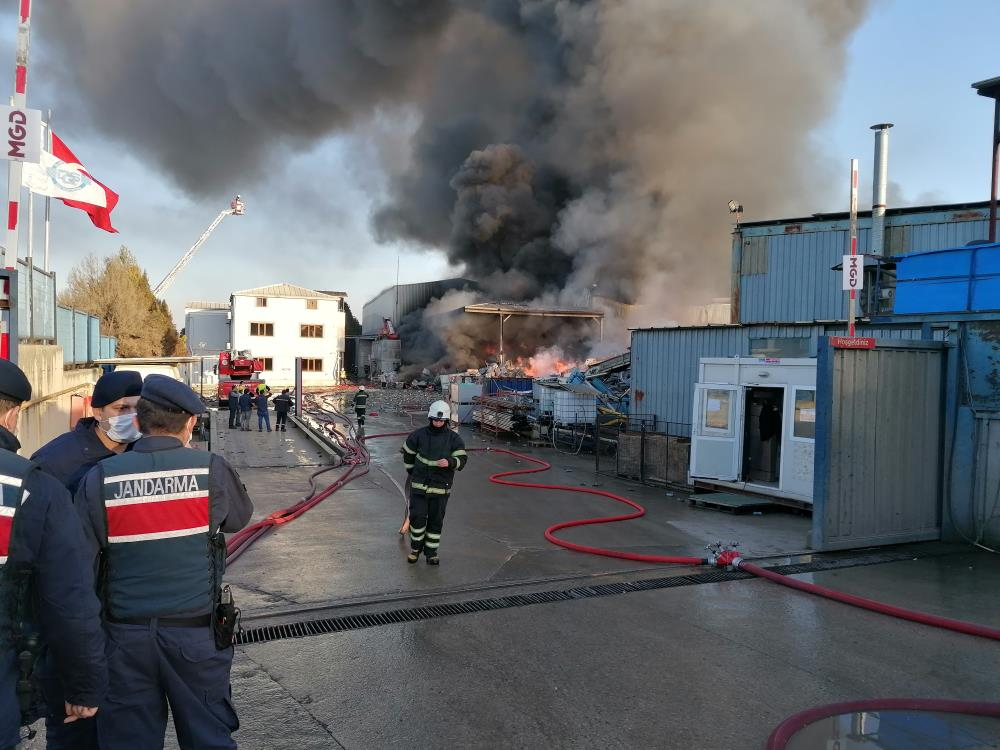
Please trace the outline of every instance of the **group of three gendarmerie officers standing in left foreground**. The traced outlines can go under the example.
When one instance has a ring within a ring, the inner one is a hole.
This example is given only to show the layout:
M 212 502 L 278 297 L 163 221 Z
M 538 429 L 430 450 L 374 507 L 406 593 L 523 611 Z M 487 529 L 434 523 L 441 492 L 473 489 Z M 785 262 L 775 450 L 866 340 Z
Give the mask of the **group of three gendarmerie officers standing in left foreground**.
M 91 417 L 28 460 L 31 393 L 0 360 L 0 750 L 43 716 L 49 748 L 162 747 L 168 703 L 182 747 L 235 748 L 223 533 L 253 504 L 190 447 L 203 402 L 108 373 Z

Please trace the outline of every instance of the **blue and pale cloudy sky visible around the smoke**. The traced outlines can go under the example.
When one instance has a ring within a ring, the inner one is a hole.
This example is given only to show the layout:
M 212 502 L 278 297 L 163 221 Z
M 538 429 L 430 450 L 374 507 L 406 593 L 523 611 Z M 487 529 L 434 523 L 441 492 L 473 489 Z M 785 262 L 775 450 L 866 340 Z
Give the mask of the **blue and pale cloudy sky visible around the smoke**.
M 861 164 L 861 205 L 870 205 L 869 126 L 877 122 L 895 125 L 890 208 L 988 198 L 993 102 L 976 96 L 970 84 L 1000 75 L 995 31 L 986 22 L 996 11 L 997 0 L 873 3 L 851 40 L 838 105 L 812 134 L 824 159 L 843 163 L 843 200 L 816 205 L 813 212 L 847 209 L 851 158 Z M 15 32 L 13 15 L 0 14 L 0 61 L 11 61 L 11 84 Z M 33 26 L 33 41 L 44 34 L 44 28 Z M 235 290 L 290 282 L 344 291 L 360 317 L 364 302 L 394 283 L 397 260 L 403 283 L 461 274 L 442 254 L 383 245 L 372 237 L 370 216 L 384 184 L 364 166 L 374 161 L 366 154 L 372 148 L 368 139 L 349 133 L 330 137 L 290 154 L 285 173 L 273 179 L 233 184 L 211 199 L 191 199 L 150 167 L 143 154 L 98 137 L 72 111 L 61 117 L 60 92 L 46 84 L 47 61 L 44 48 L 38 49 L 31 60 L 28 105 L 51 107 L 55 132 L 121 196 L 112 214 L 119 229 L 115 235 L 94 228 L 83 212 L 54 202 L 51 257 L 57 279 L 65 279 L 87 254 L 110 255 L 127 245 L 155 285 L 236 193 L 246 203 L 246 215 L 226 218 L 165 295 L 178 327 L 186 302 L 225 301 Z M 197 145 L 196 133 L 192 145 Z M 780 218 L 755 215 L 752 195 L 736 197 L 747 219 Z M 36 265 L 41 265 L 43 200 L 36 199 Z M 26 234 L 22 231 L 21 255 Z

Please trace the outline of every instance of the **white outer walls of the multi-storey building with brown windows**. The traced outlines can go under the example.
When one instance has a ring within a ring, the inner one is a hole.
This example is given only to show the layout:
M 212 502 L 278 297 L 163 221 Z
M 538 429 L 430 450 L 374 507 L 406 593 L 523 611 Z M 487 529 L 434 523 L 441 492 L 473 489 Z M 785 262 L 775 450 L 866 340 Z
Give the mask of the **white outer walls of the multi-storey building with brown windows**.
M 305 385 L 336 385 L 345 348 L 346 315 L 339 299 L 317 299 L 309 310 L 302 297 L 268 297 L 266 307 L 257 307 L 256 297 L 233 297 L 233 350 L 249 349 L 254 357 L 271 358 L 272 367 L 263 377 L 272 386 L 295 384 L 295 358 L 321 359 L 322 370 L 303 372 Z M 273 336 L 252 336 L 251 323 L 273 323 Z M 303 338 L 300 326 L 323 326 L 322 338 Z

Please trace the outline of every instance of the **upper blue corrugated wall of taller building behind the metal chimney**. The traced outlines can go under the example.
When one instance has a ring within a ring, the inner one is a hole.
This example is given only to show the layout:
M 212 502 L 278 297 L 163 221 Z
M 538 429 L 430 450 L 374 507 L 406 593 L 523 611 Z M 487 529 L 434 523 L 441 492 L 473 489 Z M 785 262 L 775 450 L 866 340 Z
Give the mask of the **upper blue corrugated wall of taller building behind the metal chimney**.
M 892 255 L 959 247 L 988 236 L 985 210 L 889 215 Z M 858 251 L 869 250 L 871 219 L 858 221 Z M 741 323 L 804 323 L 847 318 L 840 275 L 831 268 L 849 252 L 846 220 L 745 226 L 734 235 L 740 269 Z

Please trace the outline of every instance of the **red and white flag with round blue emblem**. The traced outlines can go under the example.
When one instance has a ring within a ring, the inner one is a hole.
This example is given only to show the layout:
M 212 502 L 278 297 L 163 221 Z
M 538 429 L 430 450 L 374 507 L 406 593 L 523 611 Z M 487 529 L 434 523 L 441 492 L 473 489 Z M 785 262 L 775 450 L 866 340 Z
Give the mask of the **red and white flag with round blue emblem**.
M 41 163 L 24 165 L 22 184 L 33 193 L 58 198 L 67 206 L 86 211 L 98 229 L 118 231 L 111 226 L 118 193 L 95 179 L 55 133 L 52 153 L 43 150 Z

